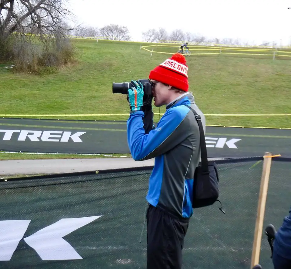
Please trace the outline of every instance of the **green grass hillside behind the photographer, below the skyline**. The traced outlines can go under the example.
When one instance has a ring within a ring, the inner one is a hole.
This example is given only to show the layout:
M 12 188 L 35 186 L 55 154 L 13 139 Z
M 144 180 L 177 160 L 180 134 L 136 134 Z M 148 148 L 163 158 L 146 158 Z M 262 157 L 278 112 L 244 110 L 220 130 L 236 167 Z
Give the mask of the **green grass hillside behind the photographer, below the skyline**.
M 15 74 L 0 65 L 3 115 L 127 114 L 126 95 L 112 82 L 148 78 L 170 55 L 140 50 L 141 43 L 72 40 L 76 63 L 57 74 Z M 146 44 L 143 44 L 146 45 Z M 176 53 L 177 47 L 154 47 Z M 205 114 L 287 114 L 291 111 L 291 61 L 244 55 L 191 55 L 189 91 Z M 164 108 L 154 107 L 154 112 Z M 28 116 L 28 118 L 126 120 L 128 116 Z M 19 116 L 16 116 L 19 117 Z M 22 116 L 23 117 L 23 116 Z M 155 121 L 159 120 L 155 115 Z M 290 116 L 206 116 L 208 125 L 290 127 Z

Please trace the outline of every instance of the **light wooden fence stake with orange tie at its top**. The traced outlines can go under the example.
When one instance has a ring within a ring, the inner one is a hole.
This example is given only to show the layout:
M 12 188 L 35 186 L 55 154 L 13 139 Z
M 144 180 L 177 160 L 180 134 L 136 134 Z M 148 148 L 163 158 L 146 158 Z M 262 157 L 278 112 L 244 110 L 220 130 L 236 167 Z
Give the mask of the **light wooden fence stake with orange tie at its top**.
M 271 171 L 271 162 L 272 162 L 272 153 L 265 152 L 262 178 L 261 178 L 261 186 L 260 186 L 260 192 L 259 192 L 259 200 L 258 200 L 258 210 L 257 210 L 255 233 L 254 233 L 254 241 L 253 241 L 251 268 L 253 268 L 256 264 L 259 264 L 261 240 L 262 240 L 262 232 L 263 232 L 263 222 L 264 222 L 264 215 L 265 215 L 265 208 L 266 208 L 269 176 L 270 176 L 270 171 Z

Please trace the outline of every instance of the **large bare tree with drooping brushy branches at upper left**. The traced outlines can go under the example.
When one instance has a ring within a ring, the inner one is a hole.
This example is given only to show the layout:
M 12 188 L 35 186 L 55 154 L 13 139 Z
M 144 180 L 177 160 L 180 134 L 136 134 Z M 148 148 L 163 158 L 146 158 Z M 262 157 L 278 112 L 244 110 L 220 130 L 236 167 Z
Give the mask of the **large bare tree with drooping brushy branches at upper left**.
M 77 27 L 66 23 L 72 14 L 66 1 L 0 0 L 0 59 L 39 74 L 72 62 L 75 50 L 65 36 Z

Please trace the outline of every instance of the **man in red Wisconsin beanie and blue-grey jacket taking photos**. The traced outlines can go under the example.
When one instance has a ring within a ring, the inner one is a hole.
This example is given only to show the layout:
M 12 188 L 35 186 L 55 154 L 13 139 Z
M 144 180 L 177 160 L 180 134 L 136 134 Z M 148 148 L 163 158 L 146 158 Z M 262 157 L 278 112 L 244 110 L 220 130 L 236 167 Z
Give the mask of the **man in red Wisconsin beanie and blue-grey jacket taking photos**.
M 193 175 L 200 160 L 199 126 L 189 105 L 205 117 L 188 92 L 188 66 L 176 53 L 154 68 L 149 79 L 155 106 L 166 105 L 156 129 L 147 130 L 145 114 L 152 113 L 144 100 L 143 85 L 131 81 L 128 90 L 131 109 L 127 140 L 134 160 L 155 158 L 149 179 L 147 209 L 147 268 L 182 268 L 182 249 L 189 219 L 193 214 Z M 146 109 L 145 109 L 146 107 Z M 152 118 L 151 118 L 152 121 Z

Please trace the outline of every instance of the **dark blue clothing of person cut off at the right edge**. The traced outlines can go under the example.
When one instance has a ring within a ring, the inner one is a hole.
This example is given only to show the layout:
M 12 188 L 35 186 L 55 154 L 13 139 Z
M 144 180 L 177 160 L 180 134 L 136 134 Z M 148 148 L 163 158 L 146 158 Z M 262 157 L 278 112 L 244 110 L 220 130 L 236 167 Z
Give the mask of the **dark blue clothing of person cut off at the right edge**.
M 285 259 L 291 260 L 291 209 L 289 216 L 284 218 L 282 226 L 276 233 L 274 252 Z

